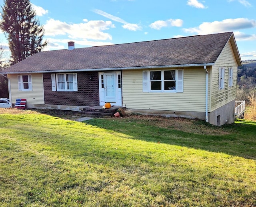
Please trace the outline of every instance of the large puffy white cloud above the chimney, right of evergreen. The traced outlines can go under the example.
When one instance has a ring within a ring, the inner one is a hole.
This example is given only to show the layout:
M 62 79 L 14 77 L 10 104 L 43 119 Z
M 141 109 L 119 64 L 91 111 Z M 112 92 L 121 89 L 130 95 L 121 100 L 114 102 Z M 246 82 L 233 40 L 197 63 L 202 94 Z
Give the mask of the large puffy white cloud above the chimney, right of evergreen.
M 114 24 L 111 21 L 84 20 L 79 24 L 68 24 L 61 22 L 60 20 L 50 19 L 46 21 L 44 25 L 46 36 L 68 35 L 68 37 L 75 39 L 92 39 L 92 40 L 112 40 L 112 36 L 108 33 L 102 32 L 114 28 Z

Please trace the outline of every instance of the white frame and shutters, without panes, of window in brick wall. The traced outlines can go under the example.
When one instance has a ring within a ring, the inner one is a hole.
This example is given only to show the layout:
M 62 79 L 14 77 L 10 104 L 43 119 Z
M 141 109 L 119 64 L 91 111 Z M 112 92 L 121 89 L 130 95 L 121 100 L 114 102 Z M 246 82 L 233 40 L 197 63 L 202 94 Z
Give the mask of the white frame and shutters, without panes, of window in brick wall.
M 67 74 L 72 74 L 73 75 L 73 89 L 71 89 L 71 90 L 67 89 L 67 80 L 66 80 L 66 75 Z M 64 75 L 65 89 L 59 89 L 58 75 Z M 52 77 L 52 91 L 66 91 L 66 92 L 77 91 L 77 74 L 76 73 L 51 74 L 51 77 Z

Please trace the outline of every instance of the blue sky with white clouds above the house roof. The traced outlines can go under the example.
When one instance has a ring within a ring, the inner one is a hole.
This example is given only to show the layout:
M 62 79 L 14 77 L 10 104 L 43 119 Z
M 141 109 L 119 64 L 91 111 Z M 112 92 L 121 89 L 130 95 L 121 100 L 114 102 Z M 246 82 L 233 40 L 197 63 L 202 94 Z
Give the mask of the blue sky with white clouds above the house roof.
M 234 32 L 242 60 L 256 59 L 256 0 L 31 0 L 45 50 Z M 3 5 L 3 0 L 0 0 Z M 8 46 L 4 34 L 0 43 Z

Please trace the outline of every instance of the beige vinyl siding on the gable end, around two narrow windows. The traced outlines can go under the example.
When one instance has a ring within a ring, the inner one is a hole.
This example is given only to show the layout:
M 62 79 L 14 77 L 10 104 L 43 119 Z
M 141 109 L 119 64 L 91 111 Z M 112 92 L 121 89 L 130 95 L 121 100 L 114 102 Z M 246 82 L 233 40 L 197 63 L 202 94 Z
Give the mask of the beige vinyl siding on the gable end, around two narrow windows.
M 219 90 L 219 68 L 225 68 L 224 89 Z M 228 68 L 233 68 L 233 86 L 228 87 Z M 211 79 L 211 100 L 210 110 L 225 105 L 236 99 L 236 83 L 237 83 L 237 62 L 230 41 L 226 44 L 218 57 L 214 66 L 212 66 Z

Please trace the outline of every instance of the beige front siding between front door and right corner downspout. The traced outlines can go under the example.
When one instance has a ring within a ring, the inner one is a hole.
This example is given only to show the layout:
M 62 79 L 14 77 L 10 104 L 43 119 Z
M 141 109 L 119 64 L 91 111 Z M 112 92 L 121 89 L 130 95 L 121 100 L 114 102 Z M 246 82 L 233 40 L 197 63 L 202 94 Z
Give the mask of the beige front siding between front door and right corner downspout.
M 205 77 L 203 68 L 183 71 L 183 93 L 142 92 L 142 70 L 124 70 L 123 105 L 129 109 L 170 111 L 205 111 Z

